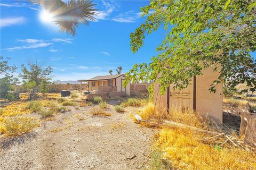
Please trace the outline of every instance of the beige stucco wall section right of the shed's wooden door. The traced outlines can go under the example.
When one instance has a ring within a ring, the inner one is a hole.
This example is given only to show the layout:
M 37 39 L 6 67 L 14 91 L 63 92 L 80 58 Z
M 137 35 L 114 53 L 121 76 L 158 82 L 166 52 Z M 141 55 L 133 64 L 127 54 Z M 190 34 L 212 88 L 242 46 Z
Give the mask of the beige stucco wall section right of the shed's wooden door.
M 219 72 L 206 69 L 203 75 L 196 77 L 196 111 L 207 114 L 217 123 L 222 123 L 222 87 L 220 83 L 216 86 L 215 94 L 209 91 L 210 85 L 219 77 Z

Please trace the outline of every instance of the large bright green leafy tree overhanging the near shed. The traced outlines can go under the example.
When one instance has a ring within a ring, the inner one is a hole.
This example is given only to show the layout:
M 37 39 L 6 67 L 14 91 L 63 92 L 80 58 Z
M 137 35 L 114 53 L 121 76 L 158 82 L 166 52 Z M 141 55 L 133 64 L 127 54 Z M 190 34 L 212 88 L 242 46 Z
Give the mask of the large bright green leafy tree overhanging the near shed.
M 126 74 L 126 83 L 157 80 L 163 94 L 170 83 L 174 88 L 186 88 L 193 76 L 213 67 L 214 71 L 221 70 L 210 91 L 222 81 L 231 89 L 246 83 L 254 91 L 255 6 L 254 0 L 151 0 L 141 8 L 146 21 L 130 35 L 131 50 L 137 52 L 146 35 L 158 29 L 163 28 L 166 36 L 150 64 L 135 64 Z

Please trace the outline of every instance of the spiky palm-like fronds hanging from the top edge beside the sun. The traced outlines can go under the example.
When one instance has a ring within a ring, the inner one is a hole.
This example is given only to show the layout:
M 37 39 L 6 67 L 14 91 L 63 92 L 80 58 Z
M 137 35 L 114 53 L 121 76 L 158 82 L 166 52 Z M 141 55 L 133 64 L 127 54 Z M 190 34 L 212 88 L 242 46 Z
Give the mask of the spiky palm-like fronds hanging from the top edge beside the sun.
M 51 13 L 53 22 L 58 25 L 61 32 L 67 32 L 73 36 L 76 35 L 79 24 L 89 25 L 89 21 L 94 21 L 97 15 L 95 4 L 89 0 L 30 1 L 41 5 L 44 10 Z

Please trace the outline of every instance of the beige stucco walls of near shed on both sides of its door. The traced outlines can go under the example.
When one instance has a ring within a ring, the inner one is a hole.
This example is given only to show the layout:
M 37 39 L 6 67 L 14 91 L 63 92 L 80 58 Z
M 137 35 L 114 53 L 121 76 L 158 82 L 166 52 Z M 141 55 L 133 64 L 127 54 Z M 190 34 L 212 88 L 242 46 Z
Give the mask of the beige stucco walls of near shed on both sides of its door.
M 216 86 L 216 92 L 210 92 L 210 85 L 214 80 L 217 80 L 219 77 L 219 71 L 213 72 L 211 68 L 204 70 L 203 75 L 199 75 L 196 77 L 196 97 L 195 97 L 195 109 L 196 112 L 202 113 L 202 115 L 207 115 L 213 121 L 218 124 L 222 123 L 222 87 L 223 84 L 220 83 Z M 190 86 L 193 86 L 191 84 Z M 170 103 L 167 105 L 167 90 L 164 95 L 160 95 L 159 83 L 154 83 L 154 104 L 157 109 L 167 108 Z M 190 92 L 191 96 L 194 97 L 194 90 Z M 170 98 L 169 98 L 170 100 Z M 193 101 L 191 105 L 193 106 Z M 182 106 L 181 104 L 177 104 L 178 106 Z M 171 108 L 170 108 L 171 109 Z

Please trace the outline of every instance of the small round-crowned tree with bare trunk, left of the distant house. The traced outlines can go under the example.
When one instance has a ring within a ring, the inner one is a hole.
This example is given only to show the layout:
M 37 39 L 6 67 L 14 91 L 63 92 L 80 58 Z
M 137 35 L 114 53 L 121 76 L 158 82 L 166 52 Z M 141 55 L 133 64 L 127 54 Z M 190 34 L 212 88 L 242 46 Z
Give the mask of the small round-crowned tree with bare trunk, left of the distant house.
M 21 71 L 22 74 L 19 74 L 19 77 L 22 78 L 24 84 L 27 84 L 31 88 L 30 100 L 35 99 L 40 90 L 45 92 L 44 87 L 51 80 L 51 66 L 45 66 L 43 63 L 28 62 L 27 67 L 24 64 L 21 65 Z

